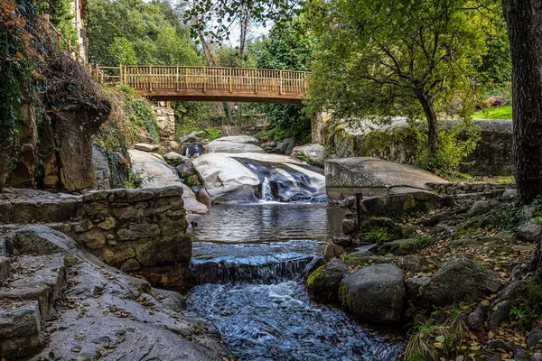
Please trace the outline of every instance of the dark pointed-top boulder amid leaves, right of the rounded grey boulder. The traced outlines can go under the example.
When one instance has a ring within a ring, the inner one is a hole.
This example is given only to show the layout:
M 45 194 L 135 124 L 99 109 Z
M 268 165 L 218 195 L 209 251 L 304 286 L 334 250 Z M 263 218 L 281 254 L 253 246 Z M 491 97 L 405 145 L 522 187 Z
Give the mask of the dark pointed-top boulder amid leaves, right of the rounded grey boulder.
M 465 258 L 454 258 L 420 288 L 420 296 L 435 306 L 455 301 L 475 301 L 498 292 L 502 282 L 499 274 Z

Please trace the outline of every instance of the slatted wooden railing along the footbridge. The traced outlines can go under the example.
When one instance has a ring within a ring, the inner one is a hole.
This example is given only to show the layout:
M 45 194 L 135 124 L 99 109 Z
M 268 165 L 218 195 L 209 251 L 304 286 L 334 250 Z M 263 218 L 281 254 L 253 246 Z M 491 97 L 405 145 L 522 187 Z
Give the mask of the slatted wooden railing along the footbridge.
M 118 72 L 117 72 L 118 69 Z M 216 67 L 120 66 L 96 68 L 102 83 L 122 82 L 148 92 L 197 90 L 304 94 L 307 71 Z M 117 75 L 118 74 L 118 75 Z

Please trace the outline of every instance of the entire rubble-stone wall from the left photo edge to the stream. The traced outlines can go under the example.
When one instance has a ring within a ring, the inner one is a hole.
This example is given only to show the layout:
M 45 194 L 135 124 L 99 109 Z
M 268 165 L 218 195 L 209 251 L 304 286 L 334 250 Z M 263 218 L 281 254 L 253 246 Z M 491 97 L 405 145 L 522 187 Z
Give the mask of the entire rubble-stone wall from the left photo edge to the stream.
M 22 191 L 0 194 L 0 223 L 48 224 L 106 264 L 153 285 L 182 287 L 192 257 L 182 187 L 97 190 L 82 197 Z

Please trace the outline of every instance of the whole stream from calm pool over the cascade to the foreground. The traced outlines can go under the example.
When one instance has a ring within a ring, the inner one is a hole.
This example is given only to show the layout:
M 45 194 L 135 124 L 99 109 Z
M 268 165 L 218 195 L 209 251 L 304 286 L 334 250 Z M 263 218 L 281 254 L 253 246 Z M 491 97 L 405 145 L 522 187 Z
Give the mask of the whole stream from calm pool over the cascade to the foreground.
M 324 203 L 219 205 L 192 231 L 188 311 L 212 322 L 238 360 L 397 360 L 400 340 L 310 301 L 305 267 L 345 210 Z

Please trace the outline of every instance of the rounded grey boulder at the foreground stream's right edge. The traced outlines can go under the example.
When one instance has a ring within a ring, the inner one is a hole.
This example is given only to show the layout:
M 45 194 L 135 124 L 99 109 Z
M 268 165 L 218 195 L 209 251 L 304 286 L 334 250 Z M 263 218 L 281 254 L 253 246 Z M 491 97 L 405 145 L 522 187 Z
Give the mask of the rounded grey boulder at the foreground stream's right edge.
M 350 273 L 341 282 L 341 304 L 358 318 L 397 322 L 406 299 L 405 273 L 393 264 L 376 264 Z

